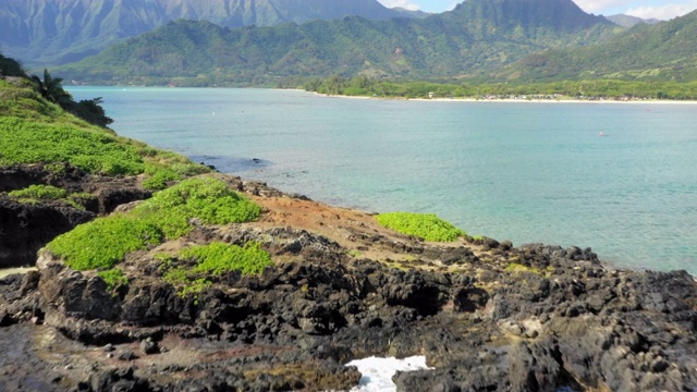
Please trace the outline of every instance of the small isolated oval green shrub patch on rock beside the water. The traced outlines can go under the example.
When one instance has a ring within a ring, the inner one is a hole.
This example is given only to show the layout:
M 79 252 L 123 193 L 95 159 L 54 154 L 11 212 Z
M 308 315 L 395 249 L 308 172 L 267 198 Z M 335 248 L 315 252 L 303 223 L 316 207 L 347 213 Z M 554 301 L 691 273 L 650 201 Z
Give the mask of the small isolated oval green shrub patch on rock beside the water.
M 376 217 L 388 229 L 426 241 L 451 242 L 466 233 L 433 213 L 387 212 Z

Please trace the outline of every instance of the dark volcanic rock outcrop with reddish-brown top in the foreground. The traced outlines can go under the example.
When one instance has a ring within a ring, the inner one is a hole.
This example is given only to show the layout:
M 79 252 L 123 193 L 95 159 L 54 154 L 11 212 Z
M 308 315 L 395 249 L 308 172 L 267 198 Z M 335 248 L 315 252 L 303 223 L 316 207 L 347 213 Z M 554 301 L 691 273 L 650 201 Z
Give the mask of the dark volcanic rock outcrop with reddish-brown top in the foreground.
M 369 215 L 228 181 L 284 201 L 266 205 L 258 222 L 193 222 L 183 238 L 129 254 L 119 265 L 129 284 L 118 289 L 47 252 L 39 271 L 0 279 L 0 351 L 14 358 L 0 358 L 3 382 L 348 390 L 360 377 L 343 366 L 352 359 L 426 355 L 432 370 L 396 373 L 399 391 L 697 388 L 697 284 L 685 271 L 614 270 L 590 248 L 431 244 Z M 197 294 L 163 279 L 159 252 L 212 241 L 259 242 L 274 267 L 208 277 Z

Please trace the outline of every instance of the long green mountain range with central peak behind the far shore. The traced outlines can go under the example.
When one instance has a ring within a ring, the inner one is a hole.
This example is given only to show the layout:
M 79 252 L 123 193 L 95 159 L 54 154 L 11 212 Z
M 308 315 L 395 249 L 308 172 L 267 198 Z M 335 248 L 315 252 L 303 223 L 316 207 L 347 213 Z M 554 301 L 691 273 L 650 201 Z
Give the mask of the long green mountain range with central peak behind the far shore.
M 549 47 L 609 39 L 614 24 L 571 0 L 468 0 L 423 20 L 347 16 L 228 29 L 175 21 L 54 70 L 91 83 L 235 85 L 332 74 L 486 75 Z

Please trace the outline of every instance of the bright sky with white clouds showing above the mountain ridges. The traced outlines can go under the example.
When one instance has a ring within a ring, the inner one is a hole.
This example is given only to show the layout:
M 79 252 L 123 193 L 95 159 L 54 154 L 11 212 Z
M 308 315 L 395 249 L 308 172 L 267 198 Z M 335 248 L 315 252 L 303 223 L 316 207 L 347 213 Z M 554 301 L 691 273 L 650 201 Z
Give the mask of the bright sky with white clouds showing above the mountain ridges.
M 450 11 L 457 0 L 378 0 L 386 7 L 402 7 L 426 12 Z M 574 0 L 582 10 L 596 15 L 627 14 L 668 21 L 697 9 L 697 0 Z

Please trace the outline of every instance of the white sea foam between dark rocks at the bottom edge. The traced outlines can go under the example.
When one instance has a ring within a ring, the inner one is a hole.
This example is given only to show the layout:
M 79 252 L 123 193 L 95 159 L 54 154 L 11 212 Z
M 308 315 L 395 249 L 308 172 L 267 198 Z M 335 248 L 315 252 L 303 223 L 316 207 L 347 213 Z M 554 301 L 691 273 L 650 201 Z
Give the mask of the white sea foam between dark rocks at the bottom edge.
M 392 376 L 398 370 L 431 369 L 426 366 L 425 356 L 413 356 L 404 359 L 369 357 L 352 360 L 346 366 L 357 367 L 363 375 L 358 387 L 352 389 L 352 392 L 393 392 L 396 391 L 396 385 L 392 382 Z

